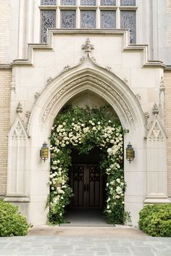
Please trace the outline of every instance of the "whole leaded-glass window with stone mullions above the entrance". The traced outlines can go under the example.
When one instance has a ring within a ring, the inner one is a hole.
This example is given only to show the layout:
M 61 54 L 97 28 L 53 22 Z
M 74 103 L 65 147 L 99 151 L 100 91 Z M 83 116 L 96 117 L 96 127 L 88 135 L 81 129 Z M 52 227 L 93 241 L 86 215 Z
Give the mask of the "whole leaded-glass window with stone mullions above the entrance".
M 46 43 L 47 29 L 56 27 L 57 12 L 57 28 L 129 29 L 130 44 L 135 44 L 137 7 L 131 8 L 135 4 L 135 0 L 41 0 L 41 5 L 54 5 L 47 9 L 39 7 L 41 9 L 41 43 Z M 123 9 L 122 6 L 130 7 Z M 118 19 L 116 19 L 116 13 Z M 80 22 L 76 22 L 77 17 Z

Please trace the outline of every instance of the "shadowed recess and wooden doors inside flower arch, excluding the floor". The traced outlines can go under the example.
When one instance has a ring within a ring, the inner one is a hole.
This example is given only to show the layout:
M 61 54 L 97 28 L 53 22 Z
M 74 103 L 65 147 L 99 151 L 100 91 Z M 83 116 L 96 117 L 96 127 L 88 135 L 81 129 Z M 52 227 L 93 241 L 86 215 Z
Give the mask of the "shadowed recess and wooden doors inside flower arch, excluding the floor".
M 89 154 L 72 151 L 72 168 L 70 168 L 70 186 L 74 196 L 70 209 L 103 209 L 105 201 L 105 176 L 99 168 L 99 149 L 92 149 Z

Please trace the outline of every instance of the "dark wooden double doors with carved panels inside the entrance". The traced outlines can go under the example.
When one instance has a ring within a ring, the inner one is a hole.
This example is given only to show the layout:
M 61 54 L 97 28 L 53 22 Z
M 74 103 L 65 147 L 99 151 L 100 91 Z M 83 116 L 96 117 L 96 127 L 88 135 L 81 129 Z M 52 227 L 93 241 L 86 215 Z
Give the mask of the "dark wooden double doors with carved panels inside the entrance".
M 70 170 L 70 186 L 74 197 L 72 209 L 101 209 L 103 207 L 103 175 L 99 165 L 73 164 Z

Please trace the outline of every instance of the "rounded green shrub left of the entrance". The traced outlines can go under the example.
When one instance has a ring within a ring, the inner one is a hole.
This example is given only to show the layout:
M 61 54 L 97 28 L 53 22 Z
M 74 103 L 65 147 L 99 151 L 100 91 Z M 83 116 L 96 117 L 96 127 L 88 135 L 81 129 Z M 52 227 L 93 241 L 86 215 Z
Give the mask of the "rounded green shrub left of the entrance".
M 29 227 L 17 206 L 0 200 L 0 236 L 25 236 Z

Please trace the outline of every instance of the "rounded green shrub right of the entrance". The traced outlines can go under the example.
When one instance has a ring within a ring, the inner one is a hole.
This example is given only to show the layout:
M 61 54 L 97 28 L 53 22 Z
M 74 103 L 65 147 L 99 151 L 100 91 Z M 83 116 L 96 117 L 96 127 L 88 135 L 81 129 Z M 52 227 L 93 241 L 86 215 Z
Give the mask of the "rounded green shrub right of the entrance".
M 146 205 L 139 215 L 139 228 L 146 234 L 171 237 L 171 204 Z

